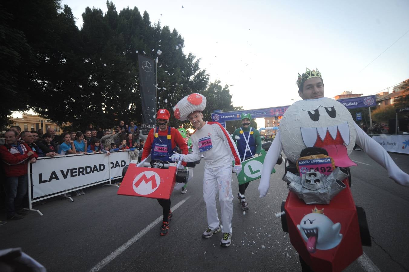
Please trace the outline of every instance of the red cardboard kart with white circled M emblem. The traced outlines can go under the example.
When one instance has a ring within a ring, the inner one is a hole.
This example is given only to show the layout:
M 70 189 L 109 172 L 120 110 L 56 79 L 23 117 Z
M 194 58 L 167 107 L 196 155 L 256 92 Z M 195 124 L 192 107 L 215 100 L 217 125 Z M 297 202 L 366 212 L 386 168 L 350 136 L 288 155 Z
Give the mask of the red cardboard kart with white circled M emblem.
M 189 170 L 179 169 L 180 164 L 151 161 L 151 156 L 139 164 L 131 162 L 117 194 L 169 199 L 175 183 L 187 183 L 189 178 Z

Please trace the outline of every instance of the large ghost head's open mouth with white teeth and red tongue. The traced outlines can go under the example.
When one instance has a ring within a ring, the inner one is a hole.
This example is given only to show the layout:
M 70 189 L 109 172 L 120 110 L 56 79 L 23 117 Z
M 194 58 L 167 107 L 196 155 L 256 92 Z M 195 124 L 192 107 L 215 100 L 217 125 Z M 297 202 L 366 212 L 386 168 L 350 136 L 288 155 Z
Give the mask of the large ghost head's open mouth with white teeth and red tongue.
M 334 159 L 336 166 L 349 167 L 356 165 L 348 157 L 345 146 L 349 145 L 348 122 L 330 127 L 301 127 L 301 136 L 306 147 L 326 149 L 328 156 Z

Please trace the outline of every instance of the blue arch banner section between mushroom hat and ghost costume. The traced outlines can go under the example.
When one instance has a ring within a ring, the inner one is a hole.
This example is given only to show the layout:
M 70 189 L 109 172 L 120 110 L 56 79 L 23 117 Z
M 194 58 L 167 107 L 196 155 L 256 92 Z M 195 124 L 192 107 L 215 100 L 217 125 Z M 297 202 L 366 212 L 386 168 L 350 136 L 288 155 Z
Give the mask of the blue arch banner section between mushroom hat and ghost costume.
M 290 106 L 212 113 L 211 120 L 219 123 L 240 120 L 240 115 L 243 113 L 251 114 L 252 118 L 278 117 L 283 116 L 288 107 Z

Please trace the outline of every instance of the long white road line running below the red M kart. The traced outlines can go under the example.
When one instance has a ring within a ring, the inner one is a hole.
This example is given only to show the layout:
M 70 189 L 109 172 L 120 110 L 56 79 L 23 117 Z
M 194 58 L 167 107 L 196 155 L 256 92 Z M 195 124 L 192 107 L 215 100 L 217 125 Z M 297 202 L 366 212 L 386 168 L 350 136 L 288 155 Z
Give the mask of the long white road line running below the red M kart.
M 175 206 L 173 206 L 171 208 L 172 211 L 176 210 L 178 207 L 180 207 L 183 203 L 185 203 L 185 201 L 187 201 L 190 198 L 187 197 L 186 199 L 180 201 L 178 204 L 176 204 Z M 138 241 L 140 238 L 142 238 L 142 236 L 144 236 L 149 230 L 151 230 L 153 227 L 155 227 L 158 223 L 160 223 L 160 221 L 163 220 L 163 216 L 159 216 L 158 218 L 156 218 L 155 221 L 153 221 L 151 224 L 149 224 L 147 227 L 145 227 L 143 230 L 141 230 L 138 234 L 136 234 L 135 236 L 133 236 L 131 239 L 129 239 L 126 243 L 124 243 L 123 245 L 121 245 L 120 247 L 118 247 L 115 251 L 113 251 L 111 254 L 109 254 L 108 256 L 105 257 L 105 259 L 103 259 L 102 261 L 100 261 L 97 265 L 95 265 L 90 272 L 97 272 L 99 270 L 101 270 L 104 266 L 106 266 L 108 263 L 110 263 L 113 259 L 115 259 L 119 254 L 121 254 L 122 252 L 124 252 L 128 247 L 130 247 L 131 245 L 133 245 L 133 243 L 135 243 L 136 241 Z

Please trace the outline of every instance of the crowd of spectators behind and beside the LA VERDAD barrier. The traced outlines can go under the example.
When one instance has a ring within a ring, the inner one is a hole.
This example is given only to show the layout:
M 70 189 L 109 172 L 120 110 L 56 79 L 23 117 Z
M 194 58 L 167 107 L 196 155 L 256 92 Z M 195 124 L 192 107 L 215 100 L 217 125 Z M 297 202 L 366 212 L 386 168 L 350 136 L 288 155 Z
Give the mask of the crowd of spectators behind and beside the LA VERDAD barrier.
M 113 129 L 97 129 L 90 124 L 84 132 L 64 132 L 61 135 L 57 135 L 52 127 L 48 127 L 43 134 L 41 129 L 21 131 L 19 126 L 11 126 L 4 134 L 4 144 L 0 145 L 3 164 L 0 175 L 5 189 L 7 220 L 19 220 L 27 215 L 23 208 L 27 206 L 25 202 L 28 200 L 29 162 L 36 163 L 37 158 L 45 156 L 97 153 L 108 156 L 111 152 L 130 152 L 131 158 L 137 160 L 144 145 L 144 139 L 139 139 L 139 133 L 135 122 L 125 125 L 122 120 Z M 82 194 L 85 194 L 83 190 L 75 191 L 76 196 Z M 40 201 L 38 203 L 41 204 Z M 0 221 L 0 225 L 4 223 Z

